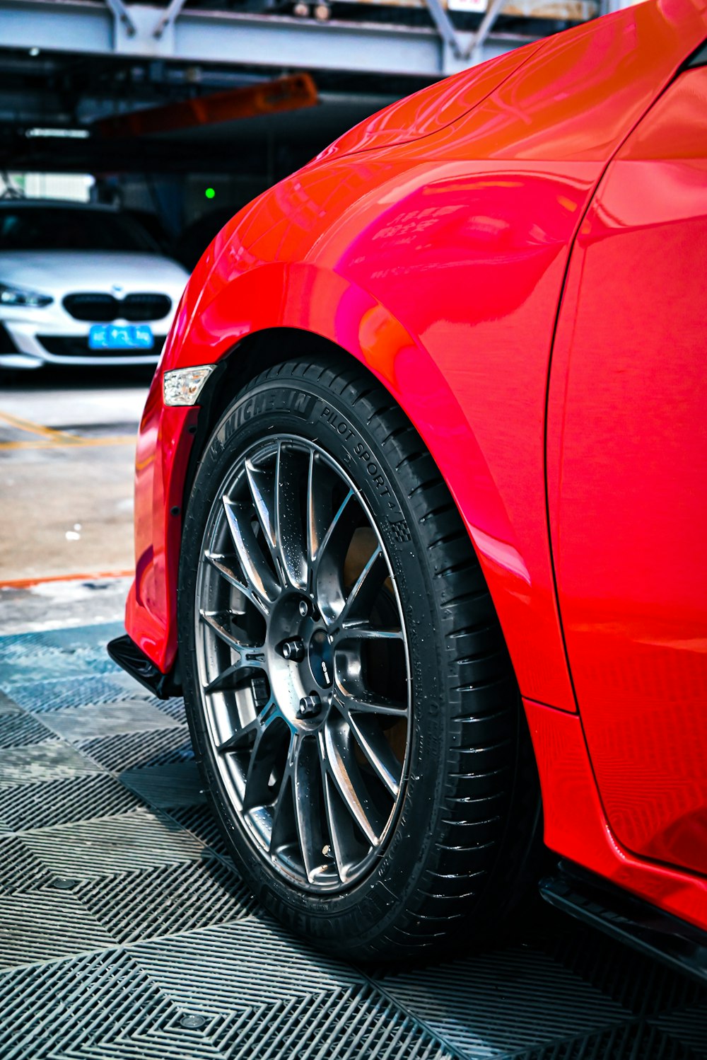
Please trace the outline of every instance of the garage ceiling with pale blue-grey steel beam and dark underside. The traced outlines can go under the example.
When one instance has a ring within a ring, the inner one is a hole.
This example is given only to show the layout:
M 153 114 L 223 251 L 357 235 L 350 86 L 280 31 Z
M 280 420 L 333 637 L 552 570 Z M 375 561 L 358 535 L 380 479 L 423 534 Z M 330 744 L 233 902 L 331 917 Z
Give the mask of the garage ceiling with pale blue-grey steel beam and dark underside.
M 325 20 L 294 17 L 295 0 L 170 0 L 159 6 L 0 0 L 1 166 L 248 174 L 273 172 L 279 156 L 275 170 L 294 169 L 393 100 L 566 24 L 504 15 L 501 8 L 511 0 L 490 2 L 493 21 L 463 13 L 453 24 L 445 15 L 452 34 L 459 34 L 453 39 L 435 24 L 439 0 L 396 0 L 394 6 L 326 0 Z M 569 7 L 586 17 L 596 4 L 562 0 L 546 4 L 545 13 L 563 15 Z M 479 32 L 483 39 L 474 45 Z M 151 128 L 138 136 L 102 131 L 101 122 L 112 116 L 268 85 L 297 72 L 311 77 L 314 105 L 256 108 L 250 116 L 240 108 L 233 120 L 178 128 L 173 122 L 168 131 Z

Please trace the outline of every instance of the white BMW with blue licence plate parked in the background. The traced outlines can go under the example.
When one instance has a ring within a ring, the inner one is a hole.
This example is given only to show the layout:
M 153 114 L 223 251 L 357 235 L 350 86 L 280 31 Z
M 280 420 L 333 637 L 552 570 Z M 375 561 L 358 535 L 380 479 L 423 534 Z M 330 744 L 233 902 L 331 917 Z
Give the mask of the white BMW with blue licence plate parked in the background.
M 0 369 L 155 365 L 187 279 L 111 207 L 0 200 Z

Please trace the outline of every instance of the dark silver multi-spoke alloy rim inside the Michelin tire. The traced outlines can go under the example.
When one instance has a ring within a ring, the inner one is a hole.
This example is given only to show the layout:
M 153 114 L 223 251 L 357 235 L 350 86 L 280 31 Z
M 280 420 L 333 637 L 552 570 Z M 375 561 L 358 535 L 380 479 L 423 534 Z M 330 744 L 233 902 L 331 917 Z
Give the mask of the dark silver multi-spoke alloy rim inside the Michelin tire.
M 290 883 L 374 866 L 412 735 L 402 608 L 361 494 L 318 445 L 243 454 L 206 520 L 196 586 L 201 703 L 246 834 Z

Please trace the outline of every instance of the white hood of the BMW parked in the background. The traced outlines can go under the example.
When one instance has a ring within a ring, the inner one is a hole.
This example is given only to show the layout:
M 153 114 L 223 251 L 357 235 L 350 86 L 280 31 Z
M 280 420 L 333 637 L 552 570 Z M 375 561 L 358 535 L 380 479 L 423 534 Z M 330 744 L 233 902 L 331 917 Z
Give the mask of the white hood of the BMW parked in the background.
M 160 254 L 112 250 L 0 251 L 0 283 L 61 296 L 70 292 L 181 294 L 188 272 Z M 115 288 L 121 288 L 115 290 Z

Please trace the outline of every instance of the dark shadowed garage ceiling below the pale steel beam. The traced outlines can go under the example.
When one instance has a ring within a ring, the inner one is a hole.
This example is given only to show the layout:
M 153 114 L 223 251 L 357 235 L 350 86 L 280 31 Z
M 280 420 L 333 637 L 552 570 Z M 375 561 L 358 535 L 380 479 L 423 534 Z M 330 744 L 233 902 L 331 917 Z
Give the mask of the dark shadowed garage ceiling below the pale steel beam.
M 2 167 L 184 173 L 197 166 L 249 173 L 260 172 L 267 156 L 282 146 L 294 167 L 351 125 L 431 81 L 398 77 L 381 84 L 370 76 L 322 71 L 313 78 L 313 105 L 139 136 L 102 132 L 101 123 L 115 114 L 269 86 L 287 72 L 0 51 Z

